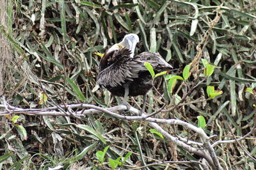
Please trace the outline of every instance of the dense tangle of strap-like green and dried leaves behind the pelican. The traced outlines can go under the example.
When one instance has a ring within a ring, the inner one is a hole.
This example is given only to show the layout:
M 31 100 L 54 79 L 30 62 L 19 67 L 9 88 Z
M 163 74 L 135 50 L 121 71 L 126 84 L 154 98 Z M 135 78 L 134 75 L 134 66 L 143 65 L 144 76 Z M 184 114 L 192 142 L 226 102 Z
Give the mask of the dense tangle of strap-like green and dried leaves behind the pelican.
M 221 167 L 256 168 L 256 1 L 0 2 L 1 169 L 204 169 L 200 155 L 163 137 L 149 122 L 106 113 L 76 117 L 82 109 L 71 113 L 68 107 L 55 108 L 63 115 L 32 113 L 60 104 L 120 104 L 120 97 L 95 88 L 100 60 L 95 52 L 104 53 L 130 32 L 141 39 L 136 53 L 159 52 L 174 67 L 169 74 L 182 76 L 191 66 L 188 80 L 175 86 L 166 75 L 156 79 L 147 114 L 159 111 L 154 117 L 195 126 L 203 116 L 211 143 L 236 139 L 213 147 Z M 215 66 L 211 76 L 203 74 L 202 61 Z M 209 97 L 207 86 L 223 94 Z M 140 110 L 142 97 L 130 97 L 129 104 Z M 12 114 L 15 107 L 31 110 Z M 182 125 L 159 125 L 175 138 L 203 142 Z

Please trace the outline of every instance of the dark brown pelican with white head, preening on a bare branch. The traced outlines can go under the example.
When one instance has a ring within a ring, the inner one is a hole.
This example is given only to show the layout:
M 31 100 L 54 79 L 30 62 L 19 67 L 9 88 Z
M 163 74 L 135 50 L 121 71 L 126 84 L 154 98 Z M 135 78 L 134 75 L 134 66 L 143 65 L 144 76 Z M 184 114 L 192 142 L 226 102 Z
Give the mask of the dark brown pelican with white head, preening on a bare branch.
M 173 67 L 159 53 L 143 52 L 134 56 L 139 41 L 136 34 L 127 34 L 124 39 L 104 53 L 99 65 L 97 83 L 102 89 L 108 89 L 115 96 L 124 97 L 127 106 L 128 96 L 143 95 L 141 113 L 145 111 L 147 92 L 153 87 L 153 79 L 145 62 L 149 62 L 155 73 L 170 71 Z

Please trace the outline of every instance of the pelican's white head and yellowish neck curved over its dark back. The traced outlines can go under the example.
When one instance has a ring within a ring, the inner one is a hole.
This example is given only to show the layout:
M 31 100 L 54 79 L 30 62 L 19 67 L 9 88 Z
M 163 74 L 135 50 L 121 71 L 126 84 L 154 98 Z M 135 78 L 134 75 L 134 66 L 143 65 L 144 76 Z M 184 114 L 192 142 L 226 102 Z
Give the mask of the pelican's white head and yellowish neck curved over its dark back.
M 106 54 L 111 53 L 115 50 L 119 50 L 120 48 L 127 48 L 131 51 L 130 57 L 133 57 L 135 46 L 139 41 L 140 39 L 136 34 L 127 34 L 126 36 L 124 36 L 124 39 L 120 43 L 116 43 L 115 45 L 111 46 Z

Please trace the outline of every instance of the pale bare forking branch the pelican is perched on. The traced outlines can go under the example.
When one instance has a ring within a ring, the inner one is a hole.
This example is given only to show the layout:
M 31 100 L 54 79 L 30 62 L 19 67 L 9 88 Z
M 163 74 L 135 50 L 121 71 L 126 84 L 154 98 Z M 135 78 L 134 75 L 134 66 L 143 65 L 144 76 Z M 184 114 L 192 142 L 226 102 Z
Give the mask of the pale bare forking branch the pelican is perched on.
M 184 148 L 184 150 L 188 151 L 189 153 L 194 153 L 196 155 L 199 155 L 200 157 L 207 160 L 207 163 L 210 167 L 213 169 L 223 169 L 220 166 L 220 162 L 218 161 L 218 158 L 216 157 L 216 154 L 214 152 L 214 148 L 209 142 L 209 136 L 205 134 L 204 130 L 201 128 L 196 127 L 195 125 L 191 125 L 187 122 L 184 122 L 182 120 L 177 119 L 163 119 L 163 118 L 153 118 L 148 117 L 148 115 L 143 114 L 141 116 L 138 116 L 140 114 L 140 111 L 136 108 L 130 108 L 129 111 L 131 113 L 134 113 L 134 116 L 124 116 L 120 115 L 118 113 L 115 113 L 117 111 L 126 110 L 126 106 L 120 105 L 115 106 L 112 108 L 100 108 L 99 106 L 94 106 L 92 104 L 65 104 L 60 106 L 52 106 L 49 108 L 29 108 L 29 109 L 23 109 L 11 106 L 6 102 L 4 97 L 1 97 L 1 103 L 0 108 L 3 109 L 3 111 L 0 111 L 0 115 L 10 115 L 10 114 L 24 114 L 24 115 L 51 115 L 51 116 L 69 116 L 69 117 L 76 117 L 76 118 L 83 118 L 87 115 L 94 114 L 94 113 L 106 113 L 108 115 L 111 115 L 112 117 L 119 118 L 122 120 L 137 120 L 137 121 L 145 121 L 149 122 L 149 125 L 153 127 L 154 129 L 157 129 L 161 134 L 163 134 L 164 137 L 172 141 L 178 146 L 181 146 Z M 88 109 L 89 108 L 89 109 Z M 74 109 L 81 109 L 81 111 L 74 111 Z M 68 110 L 63 112 L 63 110 Z M 180 138 L 172 136 L 170 133 L 165 131 L 159 124 L 172 124 L 172 125 L 182 125 L 182 127 L 186 129 L 191 129 L 192 131 L 196 132 L 200 136 L 200 139 L 202 143 L 198 143 L 197 141 L 184 141 Z M 191 144 L 198 144 L 197 146 L 205 146 L 205 148 L 196 148 L 194 146 L 191 146 Z

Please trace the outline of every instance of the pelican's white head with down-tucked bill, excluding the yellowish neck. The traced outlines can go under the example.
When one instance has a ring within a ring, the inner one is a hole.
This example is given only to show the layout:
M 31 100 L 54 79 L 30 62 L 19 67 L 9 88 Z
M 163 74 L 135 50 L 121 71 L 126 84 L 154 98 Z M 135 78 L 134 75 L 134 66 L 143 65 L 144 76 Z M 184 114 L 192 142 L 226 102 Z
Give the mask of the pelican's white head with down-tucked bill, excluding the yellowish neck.
M 131 57 L 133 57 L 136 44 L 139 41 L 140 39 L 136 34 L 127 34 L 118 45 L 129 49 L 131 51 Z

